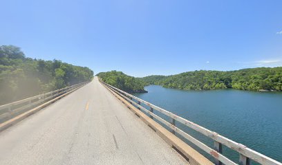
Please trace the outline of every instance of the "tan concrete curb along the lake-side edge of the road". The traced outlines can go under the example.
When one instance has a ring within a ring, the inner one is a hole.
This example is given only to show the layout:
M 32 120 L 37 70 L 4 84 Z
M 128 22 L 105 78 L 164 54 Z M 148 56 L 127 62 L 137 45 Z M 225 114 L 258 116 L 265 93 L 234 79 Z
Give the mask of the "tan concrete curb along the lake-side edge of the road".
M 101 83 L 104 87 L 103 83 Z M 145 113 L 134 107 L 130 102 L 119 96 L 115 93 L 112 89 L 109 87 L 106 87 L 111 94 L 113 94 L 118 100 L 120 100 L 122 103 L 126 105 L 135 115 L 137 115 L 144 123 L 146 123 L 153 131 L 155 131 L 169 146 L 174 148 L 180 155 L 182 155 L 189 164 L 191 165 L 212 165 L 211 161 L 198 153 L 194 148 L 191 148 L 187 143 L 180 140 L 180 138 L 176 137 L 176 135 L 173 135 L 173 133 L 169 132 L 167 129 L 165 129 L 163 126 L 149 118 Z

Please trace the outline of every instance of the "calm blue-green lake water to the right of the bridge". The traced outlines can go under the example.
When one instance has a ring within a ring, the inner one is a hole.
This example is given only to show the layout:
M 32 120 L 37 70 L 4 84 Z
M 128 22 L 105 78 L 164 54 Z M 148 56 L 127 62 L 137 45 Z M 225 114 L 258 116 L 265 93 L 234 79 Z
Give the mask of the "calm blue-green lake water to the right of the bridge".
M 282 93 L 185 91 L 158 85 L 145 89 L 149 93 L 135 96 L 282 162 Z M 176 125 L 212 146 L 212 140 L 182 124 Z M 223 148 L 223 153 L 238 161 L 238 153 L 228 148 Z

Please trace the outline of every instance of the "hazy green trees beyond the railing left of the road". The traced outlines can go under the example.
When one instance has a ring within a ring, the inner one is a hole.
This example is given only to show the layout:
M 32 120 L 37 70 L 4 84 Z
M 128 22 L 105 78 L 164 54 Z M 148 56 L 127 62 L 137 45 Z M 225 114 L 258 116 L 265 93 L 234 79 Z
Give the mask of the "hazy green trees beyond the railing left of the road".
M 93 78 L 88 67 L 28 58 L 19 47 L 0 46 L 0 104 L 82 83 Z

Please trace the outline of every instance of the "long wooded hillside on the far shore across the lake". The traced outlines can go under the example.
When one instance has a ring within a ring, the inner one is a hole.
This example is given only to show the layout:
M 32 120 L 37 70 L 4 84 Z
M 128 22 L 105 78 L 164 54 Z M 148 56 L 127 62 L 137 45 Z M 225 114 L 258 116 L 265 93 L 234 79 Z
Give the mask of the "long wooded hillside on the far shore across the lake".
M 176 89 L 233 88 L 250 91 L 282 91 L 282 67 L 258 67 L 229 72 L 200 70 L 172 76 L 147 76 L 140 80 L 147 85 L 155 84 Z

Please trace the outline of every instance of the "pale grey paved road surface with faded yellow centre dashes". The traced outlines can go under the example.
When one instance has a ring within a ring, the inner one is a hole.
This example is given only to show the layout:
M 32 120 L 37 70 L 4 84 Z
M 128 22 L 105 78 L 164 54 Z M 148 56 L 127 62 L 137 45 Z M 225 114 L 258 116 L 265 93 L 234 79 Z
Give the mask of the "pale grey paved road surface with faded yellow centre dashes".
M 0 133 L 0 164 L 187 164 L 97 80 Z

